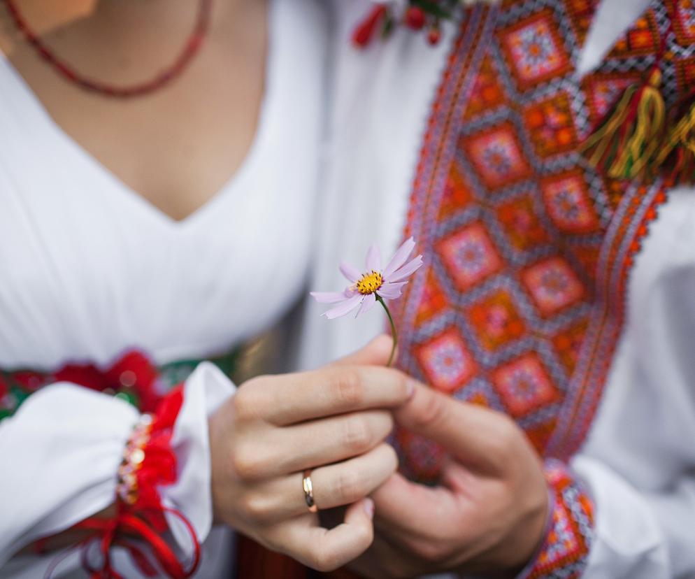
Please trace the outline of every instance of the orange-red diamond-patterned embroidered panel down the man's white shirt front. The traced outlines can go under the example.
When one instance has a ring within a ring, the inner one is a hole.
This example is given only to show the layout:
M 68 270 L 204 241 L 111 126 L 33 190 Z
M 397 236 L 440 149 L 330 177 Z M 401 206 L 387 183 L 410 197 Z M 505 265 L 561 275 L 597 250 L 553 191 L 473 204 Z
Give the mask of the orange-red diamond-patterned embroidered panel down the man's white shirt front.
M 601 178 L 575 151 L 651 66 L 668 14 L 654 1 L 584 79 L 573 63 L 596 0 L 470 8 L 424 139 L 406 236 L 431 259 L 398 304 L 399 364 L 509 413 L 541 455 L 583 440 L 633 252 L 664 199 Z M 695 70 L 695 47 L 675 53 L 669 106 Z M 436 472 L 424 446 L 403 448 L 410 474 Z

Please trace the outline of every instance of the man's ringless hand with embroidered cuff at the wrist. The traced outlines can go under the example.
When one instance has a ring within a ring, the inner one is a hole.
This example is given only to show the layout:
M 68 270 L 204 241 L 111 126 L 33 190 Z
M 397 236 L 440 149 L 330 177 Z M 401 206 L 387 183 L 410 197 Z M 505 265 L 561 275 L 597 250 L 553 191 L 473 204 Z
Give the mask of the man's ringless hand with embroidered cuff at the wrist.
M 378 579 L 515 576 L 543 540 L 548 508 L 543 466 L 524 433 L 506 415 L 422 385 L 395 416 L 450 461 L 439 487 L 396 474 L 373 494 L 375 541 L 354 569 Z

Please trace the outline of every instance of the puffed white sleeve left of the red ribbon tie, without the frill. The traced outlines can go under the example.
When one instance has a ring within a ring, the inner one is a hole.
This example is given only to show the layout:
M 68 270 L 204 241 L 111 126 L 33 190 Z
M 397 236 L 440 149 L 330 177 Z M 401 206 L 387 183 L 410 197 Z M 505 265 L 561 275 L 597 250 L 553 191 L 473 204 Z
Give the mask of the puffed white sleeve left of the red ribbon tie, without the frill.
M 113 502 L 137 419 L 127 402 L 56 383 L 0 423 L 0 566 L 24 545 Z

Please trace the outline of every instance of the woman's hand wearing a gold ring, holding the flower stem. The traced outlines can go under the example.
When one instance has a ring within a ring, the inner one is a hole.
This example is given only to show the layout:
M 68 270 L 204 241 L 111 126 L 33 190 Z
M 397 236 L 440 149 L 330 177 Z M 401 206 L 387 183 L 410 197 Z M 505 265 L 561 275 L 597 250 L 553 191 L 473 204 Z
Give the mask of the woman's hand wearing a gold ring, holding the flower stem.
M 244 383 L 210 417 L 215 519 L 303 564 L 329 571 L 373 539 L 365 497 L 397 468 L 383 443 L 413 383 L 387 362 L 390 338 L 313 372 Z M 303 471 L 311 471 L 320 509 L 350 505 L 345 521 L 320 527 L 308 511 Z

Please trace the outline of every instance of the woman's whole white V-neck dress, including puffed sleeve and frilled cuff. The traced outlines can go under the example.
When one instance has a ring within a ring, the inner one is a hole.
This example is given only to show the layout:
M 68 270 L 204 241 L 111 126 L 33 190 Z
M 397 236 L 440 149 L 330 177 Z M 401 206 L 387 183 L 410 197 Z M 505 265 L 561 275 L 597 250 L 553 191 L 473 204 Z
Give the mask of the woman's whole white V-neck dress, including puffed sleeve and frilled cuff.
M 268 328 L 298 299 L 315 202 L 324 21 L 315 0 L 270 6 L 266 94 L 248 157 L 180 222 L 62 131 L 0 55 L 0 369 L 108 366 L 129 348 L 158 364 L 201 359 Z M 207 416 L 233 392 L 201 364 L 175 425 L 180 472 L 165 500 L 201 541 L 212 524 Z M 0 422 L 0 576 L 43 576 L 52 555 L 10 558 L 113 502 L 136 419 L 123 401 L 62 383 Z M 229 561 L 230 549 L 204 548 L 199 576 L 224 576 L 229 569 L 215 562 Z M 76 566 L 66 559 L 54 576 Z M 117 567 L 136 576 L 127 561 Z

